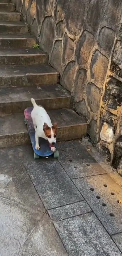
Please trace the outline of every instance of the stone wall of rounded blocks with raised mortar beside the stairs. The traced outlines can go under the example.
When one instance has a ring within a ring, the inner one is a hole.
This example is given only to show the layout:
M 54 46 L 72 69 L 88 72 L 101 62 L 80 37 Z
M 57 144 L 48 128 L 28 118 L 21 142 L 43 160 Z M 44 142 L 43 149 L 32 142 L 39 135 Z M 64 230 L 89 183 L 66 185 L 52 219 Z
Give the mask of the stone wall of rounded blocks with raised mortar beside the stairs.
M 114 161 L 122 140 L 122 1 L 12 1 L 87 118 L 92 141 L 101 138 Z

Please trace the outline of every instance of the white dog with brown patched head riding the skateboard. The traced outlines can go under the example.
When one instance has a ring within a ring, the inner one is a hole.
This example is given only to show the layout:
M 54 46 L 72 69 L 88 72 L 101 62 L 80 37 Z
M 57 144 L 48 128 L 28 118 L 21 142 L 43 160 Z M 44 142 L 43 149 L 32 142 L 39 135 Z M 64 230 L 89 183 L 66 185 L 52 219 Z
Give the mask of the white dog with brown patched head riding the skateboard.
M 51 150 L 54 152 L 56 150 L 54 144 L 56 143 L 58 125 L 57 123 L 51 123 L 46 110 L 42 106 L 38 106 L 35 99 L 31 98 L 31 102 L 34 106 L 31 112 L 31 118 L 35 128 L 35 149 L 40 149 L 39 137 L 41 137 L 48 140 Z

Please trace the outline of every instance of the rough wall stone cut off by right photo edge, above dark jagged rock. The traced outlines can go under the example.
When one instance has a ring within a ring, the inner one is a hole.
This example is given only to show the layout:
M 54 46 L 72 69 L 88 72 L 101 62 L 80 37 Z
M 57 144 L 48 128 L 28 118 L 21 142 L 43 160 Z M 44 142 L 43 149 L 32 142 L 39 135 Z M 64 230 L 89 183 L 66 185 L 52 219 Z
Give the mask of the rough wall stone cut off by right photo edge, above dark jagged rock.
M 114 63 L 122 69 L 122 42 L 117 41 L 114 53 L 113 53 L 113 61 Z

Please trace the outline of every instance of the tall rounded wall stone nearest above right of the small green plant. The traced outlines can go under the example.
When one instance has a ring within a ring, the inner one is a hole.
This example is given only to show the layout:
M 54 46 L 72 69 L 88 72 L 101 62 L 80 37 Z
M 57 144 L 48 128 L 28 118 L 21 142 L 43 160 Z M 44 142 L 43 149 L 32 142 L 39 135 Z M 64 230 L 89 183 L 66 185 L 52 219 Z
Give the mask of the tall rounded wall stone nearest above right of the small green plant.
M 46 17 L 41 27 L 39 43 L 41 45 L 41 48 L 45 52 L 47 52 L 49 56 L 51 54 L 53 40 L 54 40 L 54 20 L 52 17 Z

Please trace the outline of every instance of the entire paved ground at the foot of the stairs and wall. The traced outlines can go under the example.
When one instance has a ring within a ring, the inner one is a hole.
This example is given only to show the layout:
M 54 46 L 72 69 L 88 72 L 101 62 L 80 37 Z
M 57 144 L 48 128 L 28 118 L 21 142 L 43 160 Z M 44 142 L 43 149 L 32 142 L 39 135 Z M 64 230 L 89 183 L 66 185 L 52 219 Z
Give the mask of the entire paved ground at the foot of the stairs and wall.
M 82 144 L 0 150 L 0 256 L 122 256 L 121 177 Z

